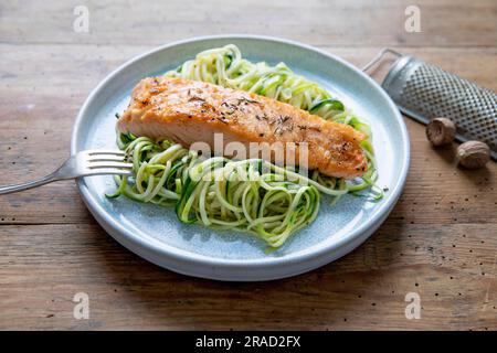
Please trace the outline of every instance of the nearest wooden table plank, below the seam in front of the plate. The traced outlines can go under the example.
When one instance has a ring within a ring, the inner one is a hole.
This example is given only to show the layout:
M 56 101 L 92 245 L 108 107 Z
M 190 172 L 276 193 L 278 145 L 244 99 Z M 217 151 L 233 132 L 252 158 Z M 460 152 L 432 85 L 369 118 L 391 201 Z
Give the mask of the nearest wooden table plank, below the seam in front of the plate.
M 490 226 L 390 218 L 343 259 L 260 284 L 176 275 L 92 224 L 0 226 L 0 329 L 495 330 Z M 89 296 L 89 320 L 73 318 L 76 292 Z M 421 320 L 404 317 L 408 292 Z

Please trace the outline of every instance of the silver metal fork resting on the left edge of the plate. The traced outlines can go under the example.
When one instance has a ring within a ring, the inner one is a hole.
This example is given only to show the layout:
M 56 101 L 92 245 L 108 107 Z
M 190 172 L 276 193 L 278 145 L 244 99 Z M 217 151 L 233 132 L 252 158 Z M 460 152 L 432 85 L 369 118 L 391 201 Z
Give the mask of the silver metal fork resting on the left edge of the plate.
M 0 195 L 11 192 L 36 188 L 59 180 L 98 174 L 130 175 L 133 163 L 125 161 L 125 153 L 118 150 L 87 150 L 78 152 L 67 159 L 53 173 L 41 179 L 22 183 L 0 186 Z

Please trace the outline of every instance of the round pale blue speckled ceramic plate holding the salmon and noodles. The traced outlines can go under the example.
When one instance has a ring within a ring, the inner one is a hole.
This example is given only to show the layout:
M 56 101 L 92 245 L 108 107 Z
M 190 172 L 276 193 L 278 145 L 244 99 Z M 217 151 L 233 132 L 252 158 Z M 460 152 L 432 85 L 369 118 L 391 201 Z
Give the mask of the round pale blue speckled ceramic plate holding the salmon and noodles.
M 203 50 L 229 43 L 244 57 L 285 62 L 296 73 L 335 93 L 346 106 L 370 122 L 385 196 L 373 203 L 347 195 L 331 207 L 322 197 L 319 215 L 276 252 L 250 234 L 219 232 L 180 223 L 173 208 L 118 197 L 112 176 L 77 181 L 82 197 L 97 222 L 120 244 L 147 260 L 177 272 L 219 279 L 256 281 L 298 275 L 328 264 L 364 242 L 396 203 L 409 169 L 409 136 L 402 117 L 382 88 L 345 61 L 305 44 L 265 36 L 197 38 L 168 44 L 138 56 L 108 75 L 89 95 L 77 116 L 72 153 L 116 148 L 115 114 L 121 113 L 131 88 L 146 76 L 160 75 Z

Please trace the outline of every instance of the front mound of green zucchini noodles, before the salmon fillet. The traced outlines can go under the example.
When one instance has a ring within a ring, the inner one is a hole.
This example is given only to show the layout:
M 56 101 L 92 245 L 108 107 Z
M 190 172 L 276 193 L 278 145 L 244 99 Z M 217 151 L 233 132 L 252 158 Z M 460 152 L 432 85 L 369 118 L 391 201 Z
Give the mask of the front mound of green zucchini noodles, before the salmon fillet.
M 250 232 L 273 248 L 316 218 L 320 193 L 347 192 L 262 159 L 202 159 L 179 143 L 129 133 L 119 141 L 134 176 L 115 176 L 117 191 L 107 197 L 176 205 L 183 223 Z

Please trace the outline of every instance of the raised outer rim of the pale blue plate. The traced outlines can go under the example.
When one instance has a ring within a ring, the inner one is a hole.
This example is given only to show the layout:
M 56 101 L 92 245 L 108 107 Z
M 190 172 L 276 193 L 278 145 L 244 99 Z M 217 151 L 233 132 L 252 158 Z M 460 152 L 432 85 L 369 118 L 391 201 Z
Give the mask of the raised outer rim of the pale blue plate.
M 144 239 L 138 234 L 134 234 L 130 229 L 123 226 L 117 218 L 108 214 L 103 205 L 98 202 L 97 199 L 93 196 L 89 189 L 85 184 L 85 178 L 80 178 L 76 180 L 77 189 L 86 204 L 87 208 L 94 215 L 96 221 L 105 228 L 110 236 L 113 236 L 117 242 L 123 244 L 129 250 L 138 254 L 139 256 L 146 258 L 147 260 L 155 263 L 161 267 L 171 269 L 177 272 L 181 272 L 189 276 L 210 278 L 210 279 L 219 279 L 219 280 L 268 280 L 268 279 L 278 279 L 298 275 L 300 272 L 305 272 L 322 266 L 327 263 L 330 263 L 348 253 L 350 253 L 355 247 L 359 246 L 362 242 L 364 242 L 388 217 L 393 206 L 396 204 L 402 190 L 405 184 L 405 180 L 409 172 L 410 160 L 411 160 L 411 151 L 410 151 L 410 137 L 408 132 L 408 128 L 405 122 L 400 114 L 399 108 L 395 106 L 393 100 L 389 97 L 389 95 L 381 88 L 381 86 L 372 79 L 369 75 L 362 72 L 360 68 L 353 66 L 352 64 L 346 62 L 345 60 L 327 53 L 318 47 L 314 47 L 308 44 L 304 44 L 297 41 L 282 39 L 276 36 L 267 36 L 267 35 L 254 35 L 254 34 L 222 34 L 222 35 L 203 35 L 203 36 L 194 36 L 187 40 L 173 41 L 171 43 L 160 45 L 150 51 L 147 51 L 142 54 L 139 54 L 124 64 L 119 65 L 113 72 L 110 72 L 104 79 L 99 82 L 99 84 L 92 90 L 88 97 L 85 99 L 83 106 L 81 107 L 77 117 L 74 122 L 72 136 L 71 136 L 71 154 L 76 153 L 77 151 L 77 136 L 81 130 L 81 126 L 83 124 L 84 117 L 86 116 L 86 110 L 91 107 L 93 100 L 99 94 L 101 89 L 112 79 L 114 79 L 123 69 L 127 66 L 131 65 L 135 62 L 142 60 L 149 55 L 152 55 L 157 52 L 177 46 L 182 44 L 188 44 L 192 42 L 207 41 L 207 40 L 236 40 L 236 39 L 248 39 L 248 40 L 258 40 L 266 42 L 278 42 L 282 44 L 288 44 L 298 46 L 300 49 L 311 51 L 324 56 L 327 56 L 334 61 L 341 63 L 347 66 L 349 69 L 358 73 L 362 76 L 363 79 L 369 81 L 370 84 L 378 90 L 378 93 L 385 99 L 391 110 L 394 113 L 394 116 L 400 126 L 400 130 L 402 133 L 402 150 L 404 151 L 404 159 L 401 163 L 400 169 L 400 178 L 396 180 L 396 183 L 390 188 L 389 199 L 385 203 L 382 204 L 381 207 L 374 210 L 371 213 L 369 218 L 359 224 L 357 228 L 352 229 L 349 233 L 349 236 L 346 238 L 339 239 L 334 244 L 329 244 L 327 246 L 322 246 L 320 243 L 313 245 L 308 248 L 285 254 L 283 257 L 267 257 L 260 259 L 226 259 L 226 258 L 214 258 L 209 257 L 202 254 L 195 254 L 192 252 L 188 252 L 166 243 L 160 243 L 159 240 L 152 239 Z M 340 252 L 340 248 L 346 248 L 347 245 L 350 246 L 352 243 L 357 243 L 352 248 L 347 249 L 346 252 Z M 160 245 L 160 246 L 159 246 Z M 321 245 L 321 246 L 319 246 Z M 138 246 L 136 248 L 135 246 Z M 303 270 L 286 270 L 285 266 L 288 268 L 293 268 L 289 265 L 298 265 L 305 263 L 313 263 Z M 181 265 L 181 266 L 178 266 Z M 283 268 L 281 268 L 283 267 Z M 230 271 L 233 268 L 244 269 L 248 272 L 243 271 L 242 274 L 235 272 L 230 275 Z M 274 268 L 274 270 L 279 268 L 279 271 L 275 272 L 265 272 L 264 269 Z M 255 271 L 254 271 L 255 270 Z M 250 272 L 252 271 L 252 272 Z

